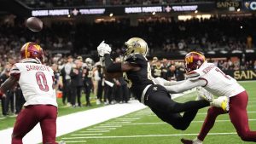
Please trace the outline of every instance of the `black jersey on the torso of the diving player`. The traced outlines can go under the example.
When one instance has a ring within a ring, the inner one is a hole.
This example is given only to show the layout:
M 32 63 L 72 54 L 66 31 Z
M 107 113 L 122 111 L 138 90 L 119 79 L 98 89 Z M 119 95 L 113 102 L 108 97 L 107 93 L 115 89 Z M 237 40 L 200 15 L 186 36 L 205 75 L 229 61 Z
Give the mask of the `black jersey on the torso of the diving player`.
M 154 84 L 152 81 L 151 67 L 147 58 L 140 54 L 131 54 L 125 61 L 141 67 L 137 72 L 124 72 L 124 78 L 129 89 L 131 89 L 131 92 L 140 101 L 143 89 L 148 84 Z

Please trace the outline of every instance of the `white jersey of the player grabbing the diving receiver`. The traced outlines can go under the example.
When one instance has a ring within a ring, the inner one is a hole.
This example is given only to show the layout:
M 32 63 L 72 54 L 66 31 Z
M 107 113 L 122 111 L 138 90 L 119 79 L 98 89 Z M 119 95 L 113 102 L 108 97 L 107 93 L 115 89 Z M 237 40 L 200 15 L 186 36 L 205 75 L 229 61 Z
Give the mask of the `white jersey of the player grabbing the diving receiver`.
M 207 81 L 204 86 L 209 92 L 216 96 L 235 96 L 245 89 L 236 82 L 236 79 L 225 75 L 217 66 L 212 63 L 203 63 L 201 67 L 195 70 L 201 79 Z

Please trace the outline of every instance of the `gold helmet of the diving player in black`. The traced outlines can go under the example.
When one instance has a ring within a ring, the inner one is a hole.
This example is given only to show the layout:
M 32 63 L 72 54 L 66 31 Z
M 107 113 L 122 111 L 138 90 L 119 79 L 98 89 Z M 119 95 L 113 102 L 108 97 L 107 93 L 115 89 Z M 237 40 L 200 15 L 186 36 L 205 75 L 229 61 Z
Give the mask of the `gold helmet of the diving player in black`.
M 148 53 L 148 44 L 140 37 L 131 37 L 125 42 L 125 56 L 138 53 L 146 56 Z

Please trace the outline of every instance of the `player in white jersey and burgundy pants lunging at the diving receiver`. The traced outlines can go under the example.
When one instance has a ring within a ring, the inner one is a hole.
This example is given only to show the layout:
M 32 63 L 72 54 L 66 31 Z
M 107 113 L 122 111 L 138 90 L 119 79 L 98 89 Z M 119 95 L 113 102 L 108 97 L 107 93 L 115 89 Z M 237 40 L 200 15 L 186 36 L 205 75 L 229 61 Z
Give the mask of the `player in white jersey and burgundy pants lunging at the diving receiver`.
M 225 75 L 213 63 L 208 63 L 205 56 L 198 52 L 190 52 L 185 56 L 185 69 L 189 78 L 193 80 L 185 80 L 177 85 L 165 86 L 171 92 L 192 89 L 202 86 L 213 95 L 224 95 L 230 99 L 230 120 L 236 128 L 237 134 L 243 141 L 256 141 L 256 131 L 251 131 L 248 126 L 247 118 L 247 101 L 248 96 L 246 90 L 236 82 L 236 79 Z M 162 80 L 162 84 L 168 85 L 170 82 Z M 160 84 L 158 79 L 156 83 Z M 195 140 L 182 139 L 184 144 L 202 144 L 207 133 L 212 129 L 215 119 L 220 114 L 227 113 L 222 108 L 210 107 L 207 112 L 207 118 L 201 128 L 200 134 Z

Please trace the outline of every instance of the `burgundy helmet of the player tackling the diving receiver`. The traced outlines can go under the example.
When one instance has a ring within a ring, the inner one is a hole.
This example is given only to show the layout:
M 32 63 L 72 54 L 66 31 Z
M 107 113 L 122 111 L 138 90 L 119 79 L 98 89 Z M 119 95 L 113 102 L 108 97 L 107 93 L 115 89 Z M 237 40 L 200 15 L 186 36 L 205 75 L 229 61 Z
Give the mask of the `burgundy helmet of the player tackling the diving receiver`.
M 185 69 L 187 72 L 194 71 L 198 69 L 204 62 L 206 58 L 199 52 L 192 51 L 185 56 Z

